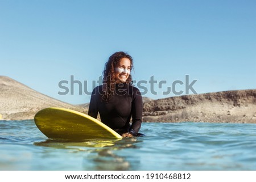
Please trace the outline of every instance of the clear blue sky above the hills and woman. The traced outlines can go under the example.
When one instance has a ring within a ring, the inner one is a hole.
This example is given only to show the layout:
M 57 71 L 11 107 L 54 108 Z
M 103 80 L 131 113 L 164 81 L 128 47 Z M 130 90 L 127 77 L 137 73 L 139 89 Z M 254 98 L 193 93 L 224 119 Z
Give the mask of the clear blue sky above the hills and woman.
M 175 96 L 162 92 L 176 80 L 185 94 L 185 75 L 198 94 L 256 88 L 256 1 L 0 0 L 0 75 L 43 94 L 88 103 L 78 84 L 59 95 L 59 82 L 73 75 L 92 91 L 119 50 L 134 58 L 133 78 L 147 81 L 143 96 L 153 99 Z M 156 95 L 152 75 L 166 81 L 154 84 Z

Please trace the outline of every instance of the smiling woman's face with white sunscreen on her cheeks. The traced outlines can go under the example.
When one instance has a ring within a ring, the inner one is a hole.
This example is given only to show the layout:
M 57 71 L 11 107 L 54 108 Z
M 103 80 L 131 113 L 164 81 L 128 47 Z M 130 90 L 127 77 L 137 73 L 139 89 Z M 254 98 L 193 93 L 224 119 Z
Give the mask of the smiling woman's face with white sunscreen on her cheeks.
M 121 58 L 117 66 L 115 66 L 115 81 L 124 83 L 130 75 L 131 61 L 128 58 Z

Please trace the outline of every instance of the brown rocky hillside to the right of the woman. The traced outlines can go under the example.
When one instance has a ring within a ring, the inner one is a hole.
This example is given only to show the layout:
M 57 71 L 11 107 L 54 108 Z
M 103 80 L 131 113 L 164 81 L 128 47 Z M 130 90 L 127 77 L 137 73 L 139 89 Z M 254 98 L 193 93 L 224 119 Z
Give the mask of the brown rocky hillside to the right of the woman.
M 148 122 L 256 123 L 256 90 L 175 96 L 143 104 Z

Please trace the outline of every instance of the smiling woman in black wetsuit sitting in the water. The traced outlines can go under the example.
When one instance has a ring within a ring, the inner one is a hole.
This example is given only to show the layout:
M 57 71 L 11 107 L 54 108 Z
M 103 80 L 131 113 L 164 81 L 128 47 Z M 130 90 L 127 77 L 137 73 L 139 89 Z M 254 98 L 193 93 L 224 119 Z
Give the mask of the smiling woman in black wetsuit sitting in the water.
M 109 57 L 103 72 L 102 86 L 92 92 L 88 115 L 97 118 L 122 137 L 141 136 L 142 96 L 133 87 L 130 71 L 133 58 L 125 52 L 116 52 Z M 130 119 L 132 117 L 132 124 Z

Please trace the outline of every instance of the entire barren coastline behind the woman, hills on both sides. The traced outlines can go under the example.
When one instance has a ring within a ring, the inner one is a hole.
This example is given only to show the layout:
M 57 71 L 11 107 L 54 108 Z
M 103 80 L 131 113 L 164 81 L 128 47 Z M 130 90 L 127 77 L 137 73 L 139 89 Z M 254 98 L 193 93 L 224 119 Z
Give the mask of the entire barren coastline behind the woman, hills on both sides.
M 0 120 L 31 120 L 47 107 L 88 113 L 89 104 L 72 105 L 41 94 L 9 77 L 0 76 Z M 256 89 L 143 98 L 143 122 L 256 123 Z

